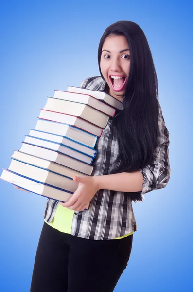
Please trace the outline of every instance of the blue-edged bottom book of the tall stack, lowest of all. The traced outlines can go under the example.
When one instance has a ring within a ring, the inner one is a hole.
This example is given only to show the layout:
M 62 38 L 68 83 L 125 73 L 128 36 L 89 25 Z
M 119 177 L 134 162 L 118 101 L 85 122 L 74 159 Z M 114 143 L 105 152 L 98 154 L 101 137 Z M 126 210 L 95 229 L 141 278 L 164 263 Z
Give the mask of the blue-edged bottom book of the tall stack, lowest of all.
M 22 176 L 19 176 L 9 170 L 3 170 L 1 177 L 1 180 L 6 181 L 8 183 L 12 183 L 13 185 L 18 186 L 19 188 L 22 188 L 26 191 L 30 191 L 32 193 L 41 195 L 43 197 L 51 198 L 56 201 L 66 202 L 69 201 L 72 194 L 70 192 L 66 192 L 51 186 L 48 186 L 46 184 L 37 183 L 33 180 L 24 178 Z M 88 210 L 89 205 L 86 207 Z

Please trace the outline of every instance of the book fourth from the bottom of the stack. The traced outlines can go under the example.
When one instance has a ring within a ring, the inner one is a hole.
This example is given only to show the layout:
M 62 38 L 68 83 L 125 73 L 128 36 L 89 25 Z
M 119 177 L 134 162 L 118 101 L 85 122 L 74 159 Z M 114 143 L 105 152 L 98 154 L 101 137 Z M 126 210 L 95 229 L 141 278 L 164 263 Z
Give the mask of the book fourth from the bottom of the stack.
M 57 151 L 42 148 L 40 146 L 22 143 L 19 152 L 47 159 L 88 175 L 91 175 L 93 170 L 93 166 L 89 164 L 83 163 L 67 155 L 58 153 Z

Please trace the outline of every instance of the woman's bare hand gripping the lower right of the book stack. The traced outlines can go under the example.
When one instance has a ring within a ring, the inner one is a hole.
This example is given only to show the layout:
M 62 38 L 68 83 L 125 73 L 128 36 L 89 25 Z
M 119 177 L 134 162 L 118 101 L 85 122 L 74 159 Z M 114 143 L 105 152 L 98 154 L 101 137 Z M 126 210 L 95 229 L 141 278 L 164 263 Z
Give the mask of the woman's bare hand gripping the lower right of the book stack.
M 73 180 L 79 183 L 77 190 L 73 193 L 69 201 L 65 203 L 59 202 L 59 204 L 71 210 L 83 211 L 97 193 L 99 188 L 94 180 L 94 177 L 91 176 L 75 176 L 73 177 Z

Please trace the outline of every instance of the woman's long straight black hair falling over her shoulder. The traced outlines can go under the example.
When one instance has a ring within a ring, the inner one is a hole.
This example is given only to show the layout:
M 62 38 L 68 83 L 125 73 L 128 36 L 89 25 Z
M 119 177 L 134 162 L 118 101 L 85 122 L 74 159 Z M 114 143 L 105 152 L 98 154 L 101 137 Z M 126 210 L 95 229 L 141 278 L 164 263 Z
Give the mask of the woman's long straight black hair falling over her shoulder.
M 158 144 L 158 80 L 144 32 L 132 21 L 118 21 L 106 28 L 98 48 L 100 68 L 102 47 L 109 35 L 124 36 L 130 49 L 130 71 L 123 110 L 112 119 L 111 129 L 118 140 L 119 154 L 110 173 L 134 172 L 152 162 Z M 133 201 L 142 201 L 141 192 L 128 192 Z

